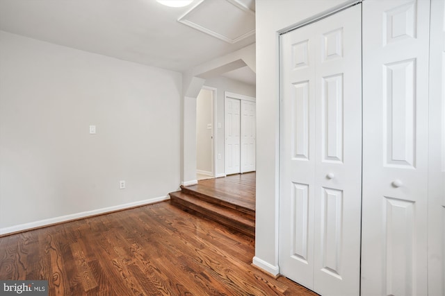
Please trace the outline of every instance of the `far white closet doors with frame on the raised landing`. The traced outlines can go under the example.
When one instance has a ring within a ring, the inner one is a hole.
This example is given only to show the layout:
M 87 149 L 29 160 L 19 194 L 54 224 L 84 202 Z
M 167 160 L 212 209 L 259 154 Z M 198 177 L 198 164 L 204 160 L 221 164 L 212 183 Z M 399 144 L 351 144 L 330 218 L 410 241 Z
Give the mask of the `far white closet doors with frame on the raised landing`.
M 256 104 L 254 98 L 225 93 L 225 174 L 256 169 Z

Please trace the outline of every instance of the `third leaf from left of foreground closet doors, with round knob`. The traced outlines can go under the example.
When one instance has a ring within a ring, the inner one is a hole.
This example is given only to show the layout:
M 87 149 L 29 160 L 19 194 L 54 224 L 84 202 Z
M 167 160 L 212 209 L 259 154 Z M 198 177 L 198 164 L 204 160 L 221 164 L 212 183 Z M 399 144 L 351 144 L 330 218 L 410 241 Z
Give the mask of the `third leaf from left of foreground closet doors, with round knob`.
M 429 14 L 363 2 L 362 295 L 428 295 Z

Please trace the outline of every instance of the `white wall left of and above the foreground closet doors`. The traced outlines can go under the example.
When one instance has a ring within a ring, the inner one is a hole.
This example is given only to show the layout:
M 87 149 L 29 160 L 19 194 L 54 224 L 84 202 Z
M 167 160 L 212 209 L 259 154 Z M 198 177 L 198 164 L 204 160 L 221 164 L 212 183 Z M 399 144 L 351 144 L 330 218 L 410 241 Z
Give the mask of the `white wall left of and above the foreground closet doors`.
M 353 0 L 257 0 L 257 205 L 253 263 L 277 274 L 280 88 L 278 33 Z

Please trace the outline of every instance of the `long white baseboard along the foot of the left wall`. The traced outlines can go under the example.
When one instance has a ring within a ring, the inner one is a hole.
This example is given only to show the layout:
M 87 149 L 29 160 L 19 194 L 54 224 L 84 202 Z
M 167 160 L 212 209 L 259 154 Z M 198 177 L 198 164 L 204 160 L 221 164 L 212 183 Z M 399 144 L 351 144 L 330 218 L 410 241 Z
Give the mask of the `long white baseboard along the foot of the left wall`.
M 106 213 L 112 212 L 112 211 L 120 211 L 122 209 L 130 209 L 132 207 L 139 207 L 144 204 L 153 204 L 155 202 L 162 202 L 164 200 L 169 200 L 169 199 L 170 199 L 169 195 L 161 196 L 159 198 L 149 198 L 148 200 L 140 200 L 138 202 L 130 202 L 128 204 L 119 204 L 119 205 L 113 206 L 113 207 L 95 209 L 92 211 L 82 211 L 82 212 L 76 213 L 76 214 L 59 216 L 59 217 L 55 217 L 55 218 L 49 218 L 49 219 L 39 220 L 39 221 L 31 222 L 31 223 L 19 224 L 19 225 L 10 226 L 10 227 L 3 227 L 3 228 L 0 228 L 0 235 L 12 234 L 14 232 L 22 232 L 22 231 L 25 231 L 28 229 L 35 229 L 35 228 L 39 228 L 39 227 L 54 225 L 57 223 L 63 223 L 63 222 L 67 222 L 67 221 L 77 220 L 80 218 L 86 218 L 86 217 L 90 217 L 90 216 L 106 214 Z

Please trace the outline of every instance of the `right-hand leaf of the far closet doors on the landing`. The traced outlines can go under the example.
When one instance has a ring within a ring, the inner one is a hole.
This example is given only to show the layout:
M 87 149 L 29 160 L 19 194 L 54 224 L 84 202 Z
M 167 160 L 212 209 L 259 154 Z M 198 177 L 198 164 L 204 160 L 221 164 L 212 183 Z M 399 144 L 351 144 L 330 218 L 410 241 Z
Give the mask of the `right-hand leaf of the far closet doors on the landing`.
M 255 171 L 257 154 L 255 102 L 241 101 L 241 173 Z

